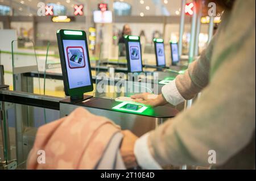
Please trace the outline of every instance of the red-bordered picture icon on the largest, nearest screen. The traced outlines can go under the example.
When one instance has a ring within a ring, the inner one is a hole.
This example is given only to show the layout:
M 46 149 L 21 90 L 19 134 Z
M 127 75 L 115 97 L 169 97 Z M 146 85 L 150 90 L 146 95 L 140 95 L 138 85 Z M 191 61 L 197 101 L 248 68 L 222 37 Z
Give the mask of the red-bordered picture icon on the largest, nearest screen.
M 79 69 L 85 67 L 84 48 L 67 47 L 68 66 L 71 69 Z

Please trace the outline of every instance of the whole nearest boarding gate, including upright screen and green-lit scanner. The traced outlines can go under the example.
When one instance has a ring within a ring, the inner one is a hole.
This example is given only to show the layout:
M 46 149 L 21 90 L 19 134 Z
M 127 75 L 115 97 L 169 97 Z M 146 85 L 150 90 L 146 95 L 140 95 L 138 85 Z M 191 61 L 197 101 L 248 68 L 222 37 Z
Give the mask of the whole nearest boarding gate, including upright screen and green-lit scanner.
M 64 35 L 64 33 L 72 34 L 77 32 L 62 31 L 61 33 Z M 36 131 L 38 127 L 44 124 L 35 124 L 35 119 L 38 119 L 36 117 L 43 113 L 38 111 L 38 108 L 51 112 L 44 112 L 44 115 L 47 116 L 54 113 L 55 115 L 57 114 L 54 119 L 48 121 L 49 123 L 69 115 L 77 107 L 84 107 L 91 113 L 108 117 L 115 124 L 120 125 L 122 129 L 129 129 L 137 136 L 155 129 L 159 124 L 178 113 L 175 108 L 170 106 L 151 108 L 134 102 L 117 101 L 113 99 L 113 96 L 108 96 L 107 94 L 84 95 L 84 92 L 93 90 L 93 82 L 89 71 L 88 50 L 86 42 L 84 42 L 85 32 L 82 32 L 81 36 L 83 36 L 82 40 L 77 39 L 78 41 L 76 40 L 75 42 L 76 47 L 72 45 L 74 42 L 69 39 L 69 35 L 64 36 L 65 41 L 58 39 L 63 43 L 59 47 L 63 48 L 65 46 L 63 50 L 68 50 L 65 52 L 60 50 L 60 53 L 61 51 L 63 53 L 60 54 L 60 57 L 62 59 L 61 68 L 65 94 L 68 95 L 67 98 L 32 93 L 32 77 L 25 76 L 27 70 L 23 70 L 24 68 L 14 74 L 15 91 L 9 90 L 9 86 L 1 85 L 2 139 L 0 140 L 2 142 L 0 142 L 0 145 L 2 145 L 2 148 L 0 149 L 3 149 L 3 155 L 1 155 L 0 169 L 16 169 L 17 167 L 26 169 L 26 159 L 34 144 Z M 73 56 L 75 54 L 72 54 L 72 52 L 75 52 L 74 49 L 76 49 L 76 52 L 79 51 L 77 53 L 79 56 Z M 68 56 L 69 52 L 72 54 L 70 57 Z M 75 79 L 72 77 L 74 72 Z M 85 76 L 77 76 L 82 74 L 85 74 Z M 117 94 L 114 98 L 118 96 Z M 10 129 L 11 125 L 14 128 Z

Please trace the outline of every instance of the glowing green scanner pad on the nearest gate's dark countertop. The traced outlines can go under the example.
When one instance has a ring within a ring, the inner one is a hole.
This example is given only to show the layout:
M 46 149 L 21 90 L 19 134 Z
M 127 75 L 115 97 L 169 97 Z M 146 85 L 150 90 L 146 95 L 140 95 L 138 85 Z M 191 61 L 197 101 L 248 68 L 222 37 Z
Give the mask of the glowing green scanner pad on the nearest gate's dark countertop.
M 113 110 L 127 111 L 127 112 L 137 112 L 142 113 L 147 110 L 148 107 L 135 102 L 122 102 L 117 106 L 113 107 Z

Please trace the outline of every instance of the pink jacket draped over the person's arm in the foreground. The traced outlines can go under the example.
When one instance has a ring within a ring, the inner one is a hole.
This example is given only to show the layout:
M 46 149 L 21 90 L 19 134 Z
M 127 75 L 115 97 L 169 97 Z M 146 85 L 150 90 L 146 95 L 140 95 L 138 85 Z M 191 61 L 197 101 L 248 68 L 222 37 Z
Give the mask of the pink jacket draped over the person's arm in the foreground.
M 77 108 L 38 129 L 27 169 L 94 169 L 112 136 L 120 131 L 109 119 Z M 45 163 L 38 162 L 39 150 L 45 153 Z

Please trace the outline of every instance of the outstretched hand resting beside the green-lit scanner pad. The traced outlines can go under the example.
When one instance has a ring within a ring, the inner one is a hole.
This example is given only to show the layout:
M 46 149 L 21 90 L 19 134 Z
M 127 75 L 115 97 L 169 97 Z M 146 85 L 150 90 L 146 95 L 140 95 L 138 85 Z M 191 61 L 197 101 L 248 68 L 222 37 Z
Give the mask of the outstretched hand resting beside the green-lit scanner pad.
M 137 103 L 142 103 L 146 104 L 151 107 L 157 107 L 157 106 L 163 106 L 167 104 L 168 102 L 163 98 L 162 94 L 159 94 L 155 99 L 150 98 L 150 93 L 143 93 L 143 94 L 137 94 L 137 95 L 132 95 L 132 99 Z M 139 100 L 141 99 L 141 100 Z

